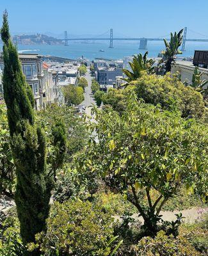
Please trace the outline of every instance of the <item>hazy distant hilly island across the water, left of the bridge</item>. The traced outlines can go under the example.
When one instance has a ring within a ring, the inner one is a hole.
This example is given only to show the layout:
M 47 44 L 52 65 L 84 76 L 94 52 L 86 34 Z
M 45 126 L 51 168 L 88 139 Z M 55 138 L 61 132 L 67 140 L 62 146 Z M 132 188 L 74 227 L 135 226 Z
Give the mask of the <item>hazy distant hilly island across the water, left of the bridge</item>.
M 35 45 L 35 44 L 49 44 L 49 45 L 59 45 L 63 44 L 60 39 L 54 38 L 47 35 L 15 35 L 13 36 L 13 42 L 17 44 L 24 45 Z

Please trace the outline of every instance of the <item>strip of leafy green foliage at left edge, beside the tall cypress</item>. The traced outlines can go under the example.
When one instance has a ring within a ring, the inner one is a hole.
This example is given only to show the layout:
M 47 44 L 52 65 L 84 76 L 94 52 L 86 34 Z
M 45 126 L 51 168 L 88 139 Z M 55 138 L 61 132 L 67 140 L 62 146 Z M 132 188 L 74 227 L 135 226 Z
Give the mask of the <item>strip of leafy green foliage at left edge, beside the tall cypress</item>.
M 6 117 L 6 106 L 0 104 L 0 195 L 13 197 L 15 165 L 10 148 L 10 132 Z

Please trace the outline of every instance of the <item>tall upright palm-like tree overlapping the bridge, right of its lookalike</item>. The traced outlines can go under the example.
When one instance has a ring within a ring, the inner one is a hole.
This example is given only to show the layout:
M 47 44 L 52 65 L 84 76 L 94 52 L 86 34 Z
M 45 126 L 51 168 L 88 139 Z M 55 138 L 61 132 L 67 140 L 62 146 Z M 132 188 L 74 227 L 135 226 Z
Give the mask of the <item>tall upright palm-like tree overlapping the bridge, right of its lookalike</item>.
M 163 54 L 166 72 L 171 71 L 171 65 L 175 63 L 175 56 L 177 54 L 182 54 L 182 51 L 179 50 L 179 47 L 182 44 L 183 31 L 184 29 L 181 29 L 179 33 L 175 32 L 174 35 L 173 33 L 170 33 L 170 42 L 164 39 L 164 45 L 166 49 L 164 51 L 161 51 L 161 54 Z

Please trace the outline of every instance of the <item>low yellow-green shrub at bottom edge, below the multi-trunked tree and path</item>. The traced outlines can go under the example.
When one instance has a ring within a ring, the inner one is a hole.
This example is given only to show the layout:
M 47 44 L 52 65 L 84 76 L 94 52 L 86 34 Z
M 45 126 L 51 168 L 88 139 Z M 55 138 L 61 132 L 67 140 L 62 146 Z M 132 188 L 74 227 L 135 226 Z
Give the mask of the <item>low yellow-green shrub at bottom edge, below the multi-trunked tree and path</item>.
M 143 237 L 137 246 L 133 246 L 132 256 L 199 256 L 195 248 L 185 237 L 166 236 L 164 231 L 157 233 L 155 238 Z

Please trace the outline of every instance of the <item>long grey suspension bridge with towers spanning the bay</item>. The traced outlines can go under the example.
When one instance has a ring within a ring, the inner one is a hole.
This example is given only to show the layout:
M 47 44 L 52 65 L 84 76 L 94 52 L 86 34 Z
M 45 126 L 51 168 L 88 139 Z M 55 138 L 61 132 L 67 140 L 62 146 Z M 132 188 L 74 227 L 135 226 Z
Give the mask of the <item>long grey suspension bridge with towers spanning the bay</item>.
M 181 50 L 185 51 L 186 42 L 208 42 L 208 38 L 187 38 L 187 31 L 188 28 L 184 28 L 184 36 L 182 40 L 182 47 Z M 194 32 L 194 31 L 193 31 Z M 137 37 L 113 37 L 113 29 L 111 28 L 109 31 L 109 37 L 92 37 L 92 38 L 70 38 L 67 35 L 67 31 L 65 31 L 64 35 L 65 38 L 61 39 L 65 42 L 65 45 L 68 45 L 68 41 L 86 41 L 86 40 L 109 40 L 109 48 L 113 48 L 113 41 L 140 41 L 139 49 L 147 49 L 147 42 L 148 41 L 163 41 L 163 38 L 137 38 Z M 106 34 L 106 33 L 104 33 Z M 104 35 L 103 34 L 103 35 Z M 202 35 L 198 33 L 199 35 Z M 205 36 L 205 35 L 202 35 Z M 208 36 L 207 36 L 208 37 Z M 170 39 L 167 38 L 170 41 Z

